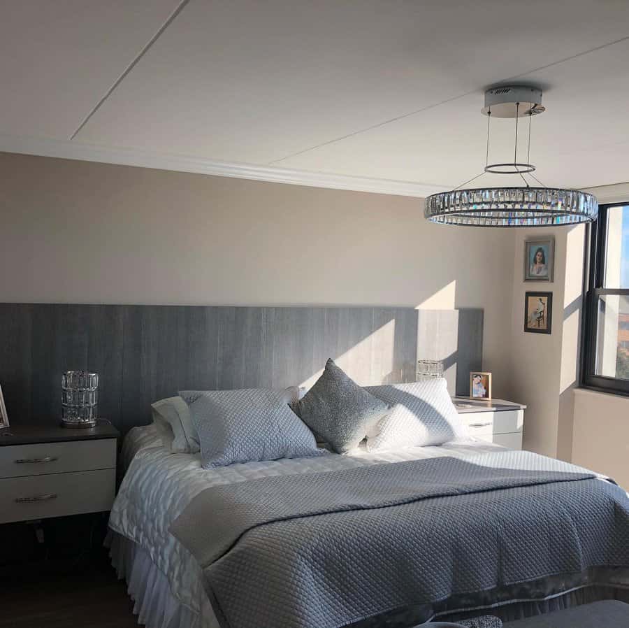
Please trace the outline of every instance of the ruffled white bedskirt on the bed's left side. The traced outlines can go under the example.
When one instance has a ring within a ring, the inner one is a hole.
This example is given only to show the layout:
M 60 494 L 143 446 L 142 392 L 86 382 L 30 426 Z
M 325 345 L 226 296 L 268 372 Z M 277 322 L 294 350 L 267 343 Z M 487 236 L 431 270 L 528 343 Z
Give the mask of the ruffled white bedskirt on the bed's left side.
M 147 628 L 218 628 L 210 601 L 199 601 L 201 614 L 184 606 L 171 593 L 168 578 L 139 545 L 109 531 L 105 541 L 118 578 L 124 578 L 129 597 L 135 602 L 133 614 Z

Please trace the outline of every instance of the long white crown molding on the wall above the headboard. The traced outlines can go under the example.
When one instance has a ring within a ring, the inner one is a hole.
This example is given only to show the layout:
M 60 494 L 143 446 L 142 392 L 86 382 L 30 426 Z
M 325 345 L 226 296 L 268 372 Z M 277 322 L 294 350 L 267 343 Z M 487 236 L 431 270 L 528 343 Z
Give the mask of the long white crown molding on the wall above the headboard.
M 110 148 L 77 141 L 17 137 L 4 134 L 0 134 L 0 152 L 80 159 L 87 162 L 200 173 L 219 177 L 268 181 L 271 183 L 327 187 L 333 190 L 396 194 L 403 197 L 424 198 L 429 194 L 444 190 L 442 186 L 414 183 L 412 181 L 354 177 L 326 172 L 256 166 L 254 164 L 217 162 L 212 159 L 185 155 L 163 155 L 131 148 Z

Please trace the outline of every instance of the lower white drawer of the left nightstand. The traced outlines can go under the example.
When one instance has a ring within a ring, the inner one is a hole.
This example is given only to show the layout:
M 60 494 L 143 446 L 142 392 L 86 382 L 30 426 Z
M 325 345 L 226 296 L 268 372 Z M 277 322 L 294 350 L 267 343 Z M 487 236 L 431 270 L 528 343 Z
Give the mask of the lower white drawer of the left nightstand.
M 108 511 L 115 469 L 0 480 L 0 523 Z

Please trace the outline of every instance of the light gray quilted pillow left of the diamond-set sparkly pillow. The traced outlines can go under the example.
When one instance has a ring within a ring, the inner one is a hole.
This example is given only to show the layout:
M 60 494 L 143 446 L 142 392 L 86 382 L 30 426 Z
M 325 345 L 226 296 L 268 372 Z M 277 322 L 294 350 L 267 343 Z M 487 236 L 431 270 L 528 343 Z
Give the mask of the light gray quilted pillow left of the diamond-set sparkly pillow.
M 327 453 L 317 449 L 315 436 L 289 408 L 297 388 L 182 391 L 181 396 L 194 399 L 190 414 L 205 469 Z

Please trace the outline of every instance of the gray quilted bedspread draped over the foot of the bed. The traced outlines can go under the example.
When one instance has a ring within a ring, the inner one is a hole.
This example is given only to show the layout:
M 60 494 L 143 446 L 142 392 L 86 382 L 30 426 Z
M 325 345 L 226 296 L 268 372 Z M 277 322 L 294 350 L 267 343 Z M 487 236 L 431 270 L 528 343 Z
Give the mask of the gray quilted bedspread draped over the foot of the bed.
M 626 492 L 530 452 L 211 487 L 171 532 L 225 628 L 384 625 L 404 608 L 629 567 Z

